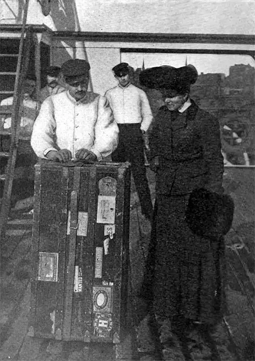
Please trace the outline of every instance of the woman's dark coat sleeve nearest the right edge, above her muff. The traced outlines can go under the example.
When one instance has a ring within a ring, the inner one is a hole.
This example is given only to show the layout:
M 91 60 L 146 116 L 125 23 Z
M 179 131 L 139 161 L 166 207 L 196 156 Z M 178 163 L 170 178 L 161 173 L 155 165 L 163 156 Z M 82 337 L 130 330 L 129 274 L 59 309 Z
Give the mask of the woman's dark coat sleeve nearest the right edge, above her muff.
M 216 118 L 208 113 L 201 127 L 203 158 L 207 165 L 206 188 L 212 192 L 222 193 L 223 156 L 221 154 L 220 128 Z

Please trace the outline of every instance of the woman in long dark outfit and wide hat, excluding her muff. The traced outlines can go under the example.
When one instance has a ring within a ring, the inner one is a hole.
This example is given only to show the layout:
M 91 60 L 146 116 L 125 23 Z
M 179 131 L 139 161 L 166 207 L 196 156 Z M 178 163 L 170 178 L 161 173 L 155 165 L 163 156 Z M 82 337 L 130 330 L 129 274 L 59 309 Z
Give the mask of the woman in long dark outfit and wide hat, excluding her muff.
M 223 192 L 219 124 L 190 99 L 196 78 L 189 66 L 157 67 L 140 74 L 141 84 L 159 89 L 165 101 L 149 137 L 156 204 L 142 293 L 152 295 L 158 323 L 170 320 L 177 335 L 184 335 L 190 324 L 217 324 L 224 304 L 222 237 L 196 235 L 186 220 L 194 189 Z

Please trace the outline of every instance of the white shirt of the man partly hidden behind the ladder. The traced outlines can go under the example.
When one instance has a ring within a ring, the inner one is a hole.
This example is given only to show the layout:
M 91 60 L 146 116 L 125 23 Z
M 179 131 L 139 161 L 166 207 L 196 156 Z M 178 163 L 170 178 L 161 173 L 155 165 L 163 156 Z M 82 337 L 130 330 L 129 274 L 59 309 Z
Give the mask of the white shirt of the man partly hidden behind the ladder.
M 3 99 L 1 106 L 6 110 L 12 111 L 13 97 Z M 30 97 L 24 97 L 21 109 L 20 133 L 19 139 L 30 140 L 35 118 L 39 111 L 39 103 Z M 11 129 L 12 118 L 8 114 L 1 117 L 2 127 L 4 129 Z

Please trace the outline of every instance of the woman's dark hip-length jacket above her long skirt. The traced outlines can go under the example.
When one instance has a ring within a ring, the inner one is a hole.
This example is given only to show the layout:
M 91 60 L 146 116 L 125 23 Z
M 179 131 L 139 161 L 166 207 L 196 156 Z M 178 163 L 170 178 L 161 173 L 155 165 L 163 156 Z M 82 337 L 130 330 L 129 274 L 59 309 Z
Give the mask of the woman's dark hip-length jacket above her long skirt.
M 217 119 L 193 101 L 172 120 L 174 114 L 162 106 L 150 134 L 151 157 L 160 157 L 157 193 L 185 195 L 199 187 L 222 192 L 223 157 Z

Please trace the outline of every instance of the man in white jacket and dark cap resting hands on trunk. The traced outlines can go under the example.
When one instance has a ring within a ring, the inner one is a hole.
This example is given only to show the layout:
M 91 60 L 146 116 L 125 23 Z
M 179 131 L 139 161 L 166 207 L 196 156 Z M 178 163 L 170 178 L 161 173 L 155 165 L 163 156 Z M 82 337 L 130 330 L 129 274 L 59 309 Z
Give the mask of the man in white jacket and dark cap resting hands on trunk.
M 100 161 L 118 144 L 118 126 L 107 98 L 88 92 L 90 65 L 65 62 L 61 71 L 67 91 L 45 99 L 31 145 L 38 157 L 53 161 Z

